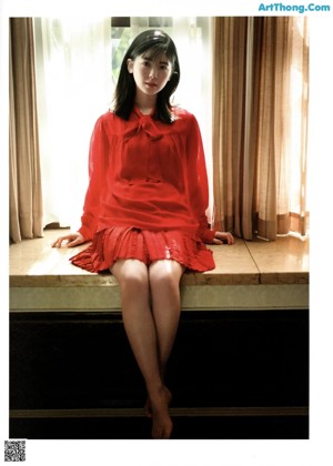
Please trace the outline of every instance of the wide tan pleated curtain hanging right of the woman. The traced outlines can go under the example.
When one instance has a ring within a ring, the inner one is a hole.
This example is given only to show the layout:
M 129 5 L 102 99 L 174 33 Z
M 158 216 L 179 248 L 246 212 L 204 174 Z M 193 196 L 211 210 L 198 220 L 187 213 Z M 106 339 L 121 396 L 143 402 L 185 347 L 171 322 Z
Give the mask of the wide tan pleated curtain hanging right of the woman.
M 216 229 L 306 233 L 306 19 L 214 19 Z

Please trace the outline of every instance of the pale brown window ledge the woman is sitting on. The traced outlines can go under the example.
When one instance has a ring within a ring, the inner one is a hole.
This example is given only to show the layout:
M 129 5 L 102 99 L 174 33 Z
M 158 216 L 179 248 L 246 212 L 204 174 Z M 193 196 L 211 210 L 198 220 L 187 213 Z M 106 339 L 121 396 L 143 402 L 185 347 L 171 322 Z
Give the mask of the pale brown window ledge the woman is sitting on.
M 73 266 L 75 249 L 52 249 L 58 231 L 10 246 L 10 307 L 19 310 L 119 310 L 118 283 L 111 274 L 91 274 Z M 183 308 L 306 308 L 309 240 L 274 242 L 236 239 L 232 246 L 209 246 L 216 267 L 185 273 Z M 98 291 L 94 293 L 93 290 Z

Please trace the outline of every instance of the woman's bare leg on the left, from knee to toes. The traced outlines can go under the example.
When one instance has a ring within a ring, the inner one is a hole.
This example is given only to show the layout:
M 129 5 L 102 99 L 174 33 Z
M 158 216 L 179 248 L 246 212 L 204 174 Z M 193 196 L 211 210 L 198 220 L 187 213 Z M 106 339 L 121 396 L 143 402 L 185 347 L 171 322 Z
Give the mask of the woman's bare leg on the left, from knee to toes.
M 150 308 L 147 266 L 137 260 L 118 261 L 111 269 L 120 284 L 123 323 L 145 381 L 152 407 L 153 438 L 170 438 L 172 422 L 159 365 L 158 336 Z

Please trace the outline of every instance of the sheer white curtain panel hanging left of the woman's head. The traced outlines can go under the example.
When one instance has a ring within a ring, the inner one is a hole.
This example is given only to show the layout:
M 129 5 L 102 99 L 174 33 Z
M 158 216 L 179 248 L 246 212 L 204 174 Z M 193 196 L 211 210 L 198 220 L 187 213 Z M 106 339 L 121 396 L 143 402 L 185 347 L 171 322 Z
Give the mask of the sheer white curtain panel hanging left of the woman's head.
M 111 102 L 110 19 L 34 20 L 43 224 L 77 229 L 97 118 Z

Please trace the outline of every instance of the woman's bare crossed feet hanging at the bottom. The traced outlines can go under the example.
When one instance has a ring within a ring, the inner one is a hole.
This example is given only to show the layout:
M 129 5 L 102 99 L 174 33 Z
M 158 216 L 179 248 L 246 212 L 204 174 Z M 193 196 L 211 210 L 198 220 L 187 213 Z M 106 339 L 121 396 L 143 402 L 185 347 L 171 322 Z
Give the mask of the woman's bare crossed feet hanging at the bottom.
M 172 421 L 169 414 L 170 392 L 167 387 L 150 394 L 151 417 L 153 422 L 152 438 L 170 438 Z

